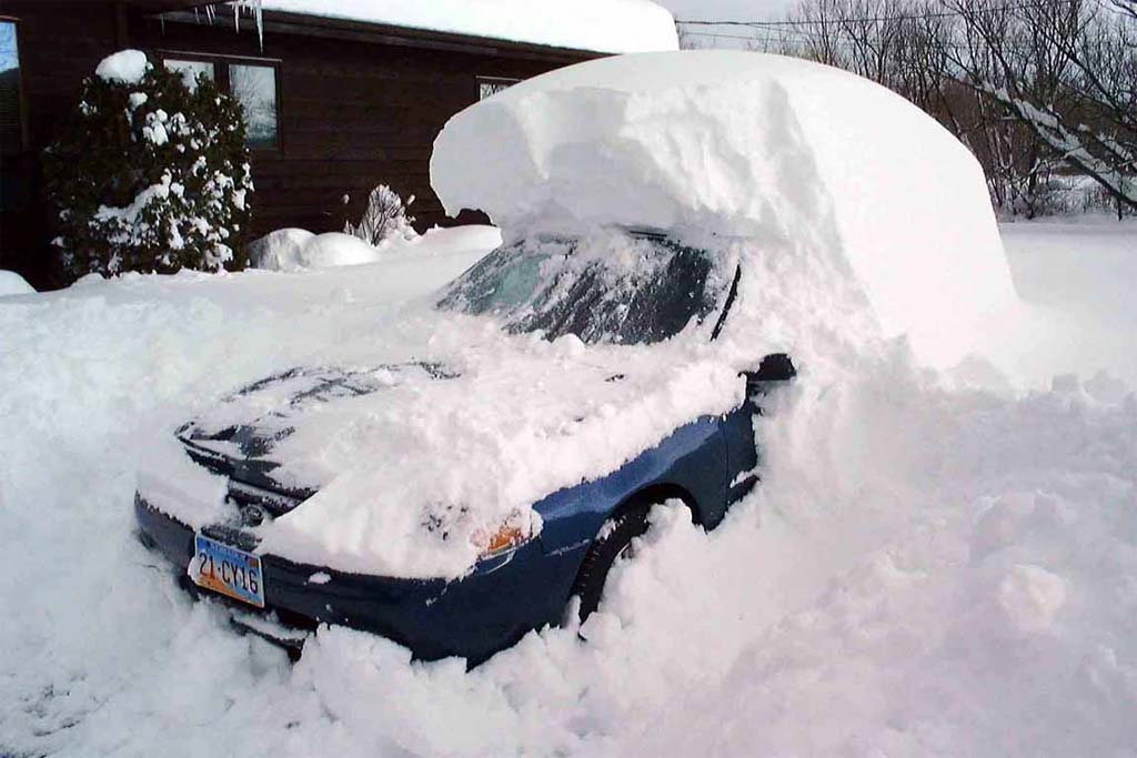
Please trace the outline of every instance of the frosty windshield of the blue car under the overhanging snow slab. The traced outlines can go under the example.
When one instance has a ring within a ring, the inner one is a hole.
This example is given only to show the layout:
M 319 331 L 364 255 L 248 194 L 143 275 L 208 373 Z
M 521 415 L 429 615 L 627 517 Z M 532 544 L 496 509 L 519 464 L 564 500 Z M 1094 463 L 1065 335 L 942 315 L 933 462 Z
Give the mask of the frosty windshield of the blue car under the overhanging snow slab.
M 508 332 L 650 343 L 702 323 L 719 303 L 711 256 L 662 238 L 522 240 L 455 280 L 440 308 L 492 314 Z

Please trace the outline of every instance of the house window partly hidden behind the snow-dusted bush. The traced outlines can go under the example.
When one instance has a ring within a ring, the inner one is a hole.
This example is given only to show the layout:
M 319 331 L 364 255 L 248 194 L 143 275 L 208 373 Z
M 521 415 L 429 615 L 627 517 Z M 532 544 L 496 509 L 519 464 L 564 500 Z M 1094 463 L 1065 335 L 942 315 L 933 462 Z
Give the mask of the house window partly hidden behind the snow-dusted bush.
M 171 53 L 161 63 L 167 69 L 179 72 L 191 90 L 197 86 L 198 77 L 205 76 L 236 100 L 244 111 L 246 142 L 250 148 L 280 147 L 275 65 L 198 53 Z

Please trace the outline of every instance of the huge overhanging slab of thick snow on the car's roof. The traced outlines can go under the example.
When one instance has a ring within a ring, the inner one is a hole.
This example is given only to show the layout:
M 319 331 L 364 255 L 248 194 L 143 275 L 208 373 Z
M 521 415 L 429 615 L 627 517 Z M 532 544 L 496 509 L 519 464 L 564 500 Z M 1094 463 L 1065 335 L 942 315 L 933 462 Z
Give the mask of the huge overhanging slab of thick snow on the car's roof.
M 431 181 L 448 213 L 480 208 L 507 234 L 697 230 L 786 248 L 778 265 L 799 272 L 833 257 L 883 333 L 933 364 L 1013 302 L 971 153 L 893 92 L 803 60 L 683 51 L 551 72 L 451 118 Z

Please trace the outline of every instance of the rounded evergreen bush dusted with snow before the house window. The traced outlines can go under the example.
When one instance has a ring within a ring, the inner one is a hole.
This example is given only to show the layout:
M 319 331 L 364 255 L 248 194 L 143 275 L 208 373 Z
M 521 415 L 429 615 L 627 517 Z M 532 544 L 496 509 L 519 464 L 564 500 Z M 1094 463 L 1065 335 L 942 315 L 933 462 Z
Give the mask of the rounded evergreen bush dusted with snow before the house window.
M 68 276 L 244 265 L 252 181 L 240 105 L 138 50 L 103 60 L 47 151 Z

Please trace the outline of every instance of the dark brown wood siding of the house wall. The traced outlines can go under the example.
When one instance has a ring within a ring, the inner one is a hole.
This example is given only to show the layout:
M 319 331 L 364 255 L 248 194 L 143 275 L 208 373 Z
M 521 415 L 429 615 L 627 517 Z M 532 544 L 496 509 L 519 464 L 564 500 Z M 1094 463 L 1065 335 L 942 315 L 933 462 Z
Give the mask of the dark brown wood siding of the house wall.
M 227 15 L 211 25 L 185 13 L 160 20 L 97 2 L 3 2 L 0 13 L 20 24 L 34 153 L 74 109 L 83 77 L 118 49 L 124 14 L 130 45 L 156 63 L 164 52 L 271 59 L 279 67 L 280 148 L 252 153 L 255 234 L 283 226 L 339 231 L 345 219 L 358 220 L 381 183 L 415 195 L 410 213 L 420 231 L 455 223 L 430 188 L 431 147 L 446 120 L 478 100 L 478 77 L 528 78 L 595 57 L 290 15 L 266 14 L 262 48 L 251 19 L 238 32 Z M 0 267 L 13 267 L 10 252 L 0 256 Z

